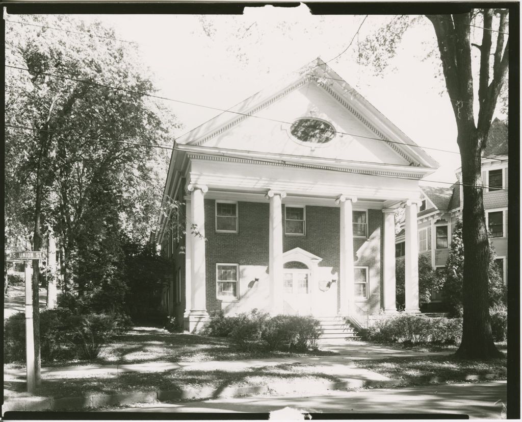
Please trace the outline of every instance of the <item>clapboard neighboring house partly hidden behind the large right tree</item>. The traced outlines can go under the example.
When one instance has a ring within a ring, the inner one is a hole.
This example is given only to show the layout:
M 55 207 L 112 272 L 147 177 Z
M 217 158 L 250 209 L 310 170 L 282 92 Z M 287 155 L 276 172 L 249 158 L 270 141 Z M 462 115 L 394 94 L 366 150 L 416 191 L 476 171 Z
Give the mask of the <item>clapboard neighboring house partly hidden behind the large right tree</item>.
M 488 146 L 482 152 L 482 183 L 484 212 L 496 263 L 504 283 L 507 280 L 507 124 L 495 119 L 491 124 Z M 421 205 L 418 219 L 419 254 L 430 257 L 433 268 L 444 271 L 449 255 L 452 227 L 462 215 L 462 174 L 456 172 L 457 182 L 451 187 L 434 187 L 421 183 Z M 402 259 L 405 251 L 404 230 L 396 236 L 396 257 Z M 433 293 L 426 310 L 440 310 L 442 295 Z

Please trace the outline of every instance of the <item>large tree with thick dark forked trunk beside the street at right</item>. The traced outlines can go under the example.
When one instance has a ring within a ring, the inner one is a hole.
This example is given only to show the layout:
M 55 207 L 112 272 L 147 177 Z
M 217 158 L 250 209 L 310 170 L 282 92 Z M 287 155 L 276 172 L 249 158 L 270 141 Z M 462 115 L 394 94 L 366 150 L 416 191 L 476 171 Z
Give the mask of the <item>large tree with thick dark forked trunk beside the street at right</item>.
M 426 15 L 435 30 L 438 54 L 434 56 L 440 58 L 437 67 L 442 68 L 445 91 L 455 116 L 462 166 L 462 241 L 466 257 L 462 298 L 464 326 L 456 354 L 465 358 L 503 356 L 493 343 L 488 312 L 490 253 L 482 201 L 481 153 L 487 146 L 497 99 L 507 77 L 508 16 L 508 9 L 491 8 L 470 8 L 454 15 Z M 471 29 L 477 26 L 483 29 L 474 37 Z M 393 55 L 395 50 L 390 45 L 397 44 L 404 32 L 404 25 L 390 25 L 387 30 L 381 28 L 375 33 L 385 37 L 386 42 L 382 41 L 381 45 Z M 431 53 L 432 49 L 423 46 L 423 51 Z M 478 101 L 474 97 L 476 91 Z

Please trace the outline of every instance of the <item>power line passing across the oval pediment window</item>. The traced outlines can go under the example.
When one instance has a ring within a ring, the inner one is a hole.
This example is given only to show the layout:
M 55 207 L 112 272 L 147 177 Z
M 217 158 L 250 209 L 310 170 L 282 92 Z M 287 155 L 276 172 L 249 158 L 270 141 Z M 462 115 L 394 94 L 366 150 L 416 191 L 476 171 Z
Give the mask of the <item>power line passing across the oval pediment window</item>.
M 32 73 L 38 73 L 38 74 L 41 74 L 41 75 L 51 76 L 51 77 L 55 77 L 55 78 L 62 78 L 62 79 L 72 80 L 74 82 L 79 82 L 79 83 L 83 83 L 83 84 L 87 84 L 87 85 L 99 86 L 99 87 L 102 87 L 102 88 L 109 88 L 109 89 L 114 89 L 114 90 L 117 90 L 117 91 L 133 93 L 133 94 L 140 95 L 140 96 L 151 97 L 151 98 L 158 98 L 158 99 L 161 99 L 161 100 L 173 101 L 173 102 L 178 102 L 178 103 L 187 104 L 187 105 L 194 105 L 195 107 L 202 107 L 202 108 L 211 109 L 211 110 L 217 110 L 217 111 L 226 112 L 226 113 L 238 114 L 238 115 L 245 116 L 245 117 L 252 117 L 252 118 L 255 118 L 255 119 L 262 119 L 262 120 L 267 120 L 267 121 L 276 122 L 276 123 L 288 124 L 290 126 L 293 125 L 293 123 L 286 122 L 286 121 L 283 121 L 283 120 L 271 119 L 271 118 L 267 118 L 267 117 L 263 117 L 263 116 L 256 116 L 256 115 L 253 115 L 253 114 L 241 113 L 239 111 L 232 111 L 232 110 L 221 109 L 221 108 L 218 108 L 218 107 L 211 107 L 210 105 L 197 104 L 197 103 L 193 103 L 193 102 L 189 102 L 189 101 L 183 101 L 183 100 L 176 100 L 176 99 L 173 99 L 173 98 L 161 97 L 161 96 L 149 94 L 149 93 L 146 93 L 146 92 L 139 92 L 139 91 L 134 91 L 134 90 L 131 90 L 131 89 L 118 88 L 118 87 L 113 87 L 113 86 L 110 86 L 110 85 L 98 84 L 98 83 L 91 82 L 91 81 L 88 81 L 88 80 L 71 78 L 71 77 L 67 77 L 67 76 L 63 76 L 63 75 L 55 75 L 55 74 L 47 73 L 47 72 L 30 71 L 27 68 L 18 67 L 18 66 L 11 66 L 11 65 L 7 65 L 7 64 L 4 65 L 4 66 L 5 67 L 10 67 L 10 68 L 13 68 L 13 69 L 18 69 L 18 70 L 21 70 L 21 71 L 26 71 L 28 73 L 31 73 L 31 72 Z M 320 76 L 317 76 L 317 77 L 320 77 Z M 306 127 L 306 126 L 303 126 L 303 127 Z M 433 148 L 433 147 L 427 147 L 427 146 L 415 145 L 415 144 L 406 144 L 406 143 L 397 142 L 397 141 L 393 141 L 393 140 L 376 138 L 376 137 L 373 137 L 373 136 L 358 135 L 358 134 L 354 134 L 354 133 L 341 132 L 341 131 L 322 129 L 322 128 L 314 128 L 314 129 L 315 130 L 322 130 L 322 131 L 330 132 L 330 133 L 338 133 L 338 134 L 341 134 L 341 135 L 355 136 L 355 137 L 358 137 L 358 138 L 378 140 L 380 142 L 385 142 L 387 144 L 397 144 L 397 145 L 401 145 L 401 146 L 410 146 L 410 147 L 419 148 L 419 149 L 430 149 L 430 150 L 434 150 L 434 151 L 440 151 L 440 152 L 443 152 L 443 153 L 450 153 L 450 154 L 459 154 L 459 155 L 461 155 L 457 151 L 449 151 L 449 150 L 446 150 L 446 149 Z M 462 154 L 462 155 L 468 155 L 468 156 L 471 156 L 471 157 L 476 157 L 476 155 L 474 155 L 474 154 Z M 479 156 L 479 157 L 492 159 L 492 160 L 503 161 L 503 160 L 501 160 L 499 158 L 495 158 L 495 157 L 485 157 L 485 156 Z

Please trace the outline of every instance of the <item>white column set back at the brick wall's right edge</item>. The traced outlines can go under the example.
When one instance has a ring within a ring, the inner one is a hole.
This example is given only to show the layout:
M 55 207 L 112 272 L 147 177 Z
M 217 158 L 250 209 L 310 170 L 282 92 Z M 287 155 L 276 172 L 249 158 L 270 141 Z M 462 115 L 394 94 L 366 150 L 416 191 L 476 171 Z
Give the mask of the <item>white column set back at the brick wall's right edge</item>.
M 395 313 L 395 209 L 385 208 L 384 214 L 384 250 L 383 284 L 384 312 Z

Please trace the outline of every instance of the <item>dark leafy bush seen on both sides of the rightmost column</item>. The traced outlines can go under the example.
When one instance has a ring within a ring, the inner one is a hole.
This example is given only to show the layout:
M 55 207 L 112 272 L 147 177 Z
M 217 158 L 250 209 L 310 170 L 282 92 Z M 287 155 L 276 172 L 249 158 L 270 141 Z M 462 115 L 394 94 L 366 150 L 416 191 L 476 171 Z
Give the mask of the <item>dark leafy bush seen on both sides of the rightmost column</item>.
M 395 300 L 397 308 L 405 308 L 405 262 L 398 260 L 395 265 Z M 429 303 L 432 291 L 440 291 L 443 280 L 431 266 L 428 256 L 419 255 L 419 306 Z

